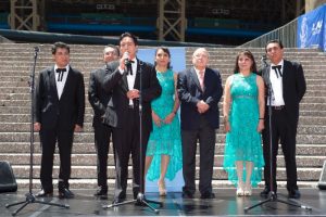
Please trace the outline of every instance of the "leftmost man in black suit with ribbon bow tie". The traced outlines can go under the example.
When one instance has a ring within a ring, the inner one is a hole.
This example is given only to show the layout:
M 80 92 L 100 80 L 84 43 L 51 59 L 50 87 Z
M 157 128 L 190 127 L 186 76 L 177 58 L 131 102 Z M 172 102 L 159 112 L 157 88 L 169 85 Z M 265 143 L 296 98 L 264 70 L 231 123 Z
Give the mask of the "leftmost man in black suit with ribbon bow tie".
M 59 197 L 74 197 L 70 191 L 71 155 L 74 132 L 83 129 L 85 88 L 80 72 L 70 66 L 70 47 L 52 46 L 54 65 L 40 72 L 35 91 L 34 130 L 41 144 L 40 181 L 42 190 L 36 196 L 52 196 L 52 169 L 55 142 L 60 153 Z

